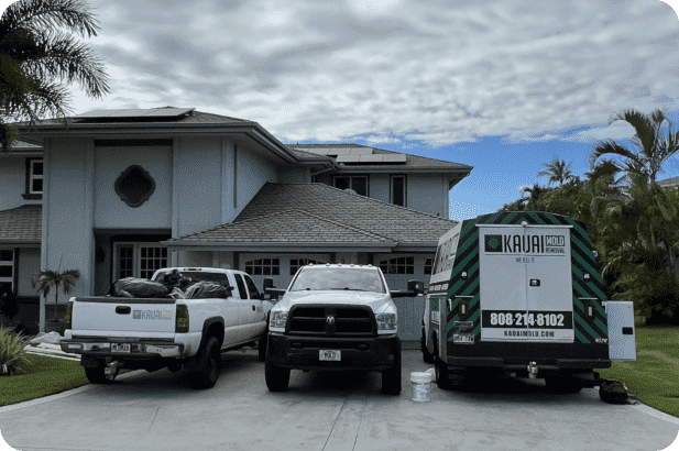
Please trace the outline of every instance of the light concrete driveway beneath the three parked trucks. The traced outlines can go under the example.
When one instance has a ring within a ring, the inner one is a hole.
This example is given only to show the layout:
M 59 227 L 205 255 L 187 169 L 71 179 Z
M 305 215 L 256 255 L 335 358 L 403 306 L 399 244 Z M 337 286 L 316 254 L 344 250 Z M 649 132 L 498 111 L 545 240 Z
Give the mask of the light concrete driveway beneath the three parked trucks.
M 552 395 L 541 381 L 410 399 L 409 373 L 429 365 L 404 351 L 398 397 L 380 376 L 293 371 L 270 393 L 256 352 L 222 355 L 209 391 L 167 370 L 124 375 L 0 408 L 0 432 L 17 450 L 661 450 L 679 449 L 679 420 L 644 405 L 613 406 L 595 389 Z M 127 376 L 127 377 L 125 377 Z

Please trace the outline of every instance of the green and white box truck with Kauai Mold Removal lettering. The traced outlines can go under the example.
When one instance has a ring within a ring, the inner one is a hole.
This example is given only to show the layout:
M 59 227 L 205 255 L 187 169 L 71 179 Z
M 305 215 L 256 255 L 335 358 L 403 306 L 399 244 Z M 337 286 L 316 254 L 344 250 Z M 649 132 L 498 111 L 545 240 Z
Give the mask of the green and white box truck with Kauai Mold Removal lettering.
M 634 309 L 604 293 L 582 222 L 538 211 L 464 220 L 439 240 L 424 360 L 440 388 L 488 375 L 566 393 L 602 385 L 594 369 L 636 359 Z

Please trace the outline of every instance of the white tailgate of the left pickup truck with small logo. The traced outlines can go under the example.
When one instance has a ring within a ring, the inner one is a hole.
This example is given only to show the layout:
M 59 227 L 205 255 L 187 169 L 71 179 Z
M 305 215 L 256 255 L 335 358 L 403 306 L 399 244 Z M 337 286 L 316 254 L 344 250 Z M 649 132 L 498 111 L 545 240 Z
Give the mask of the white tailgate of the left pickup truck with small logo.
M 116 331 L 174 333 L 175 299 L 76 297 L 73 332 Z M 72 300 L 74 300 L 72 299 Z

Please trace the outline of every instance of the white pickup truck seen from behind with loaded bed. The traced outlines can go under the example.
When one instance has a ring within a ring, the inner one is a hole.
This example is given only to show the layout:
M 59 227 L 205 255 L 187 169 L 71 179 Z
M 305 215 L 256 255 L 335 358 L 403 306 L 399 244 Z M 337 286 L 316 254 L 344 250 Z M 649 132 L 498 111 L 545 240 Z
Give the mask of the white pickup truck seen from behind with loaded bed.
M 62 350 L 81 355 L 92 383 L 112 382 L 121 367 L 156 371 L 186 369 L 195 388 L 210 388 L 219 377 L 221 352 L 266 348 L 272 304 L 263 300 L 242 271 L 207 267 L 162 268 L 152 280 L 177 270 L 193 282 L 227 287 L 226 298 L 72 297 L 66 306 Z M 177 297 L 177 296 L 175 296 Z

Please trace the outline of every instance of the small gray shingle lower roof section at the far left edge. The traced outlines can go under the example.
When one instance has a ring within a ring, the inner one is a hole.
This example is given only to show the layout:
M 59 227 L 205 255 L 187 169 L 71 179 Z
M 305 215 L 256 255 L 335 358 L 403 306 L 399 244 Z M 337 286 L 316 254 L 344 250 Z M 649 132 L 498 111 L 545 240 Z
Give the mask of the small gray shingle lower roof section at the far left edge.
M 43 207 L 24 205 L 0 211 L 0 243 L 40 243 Z

